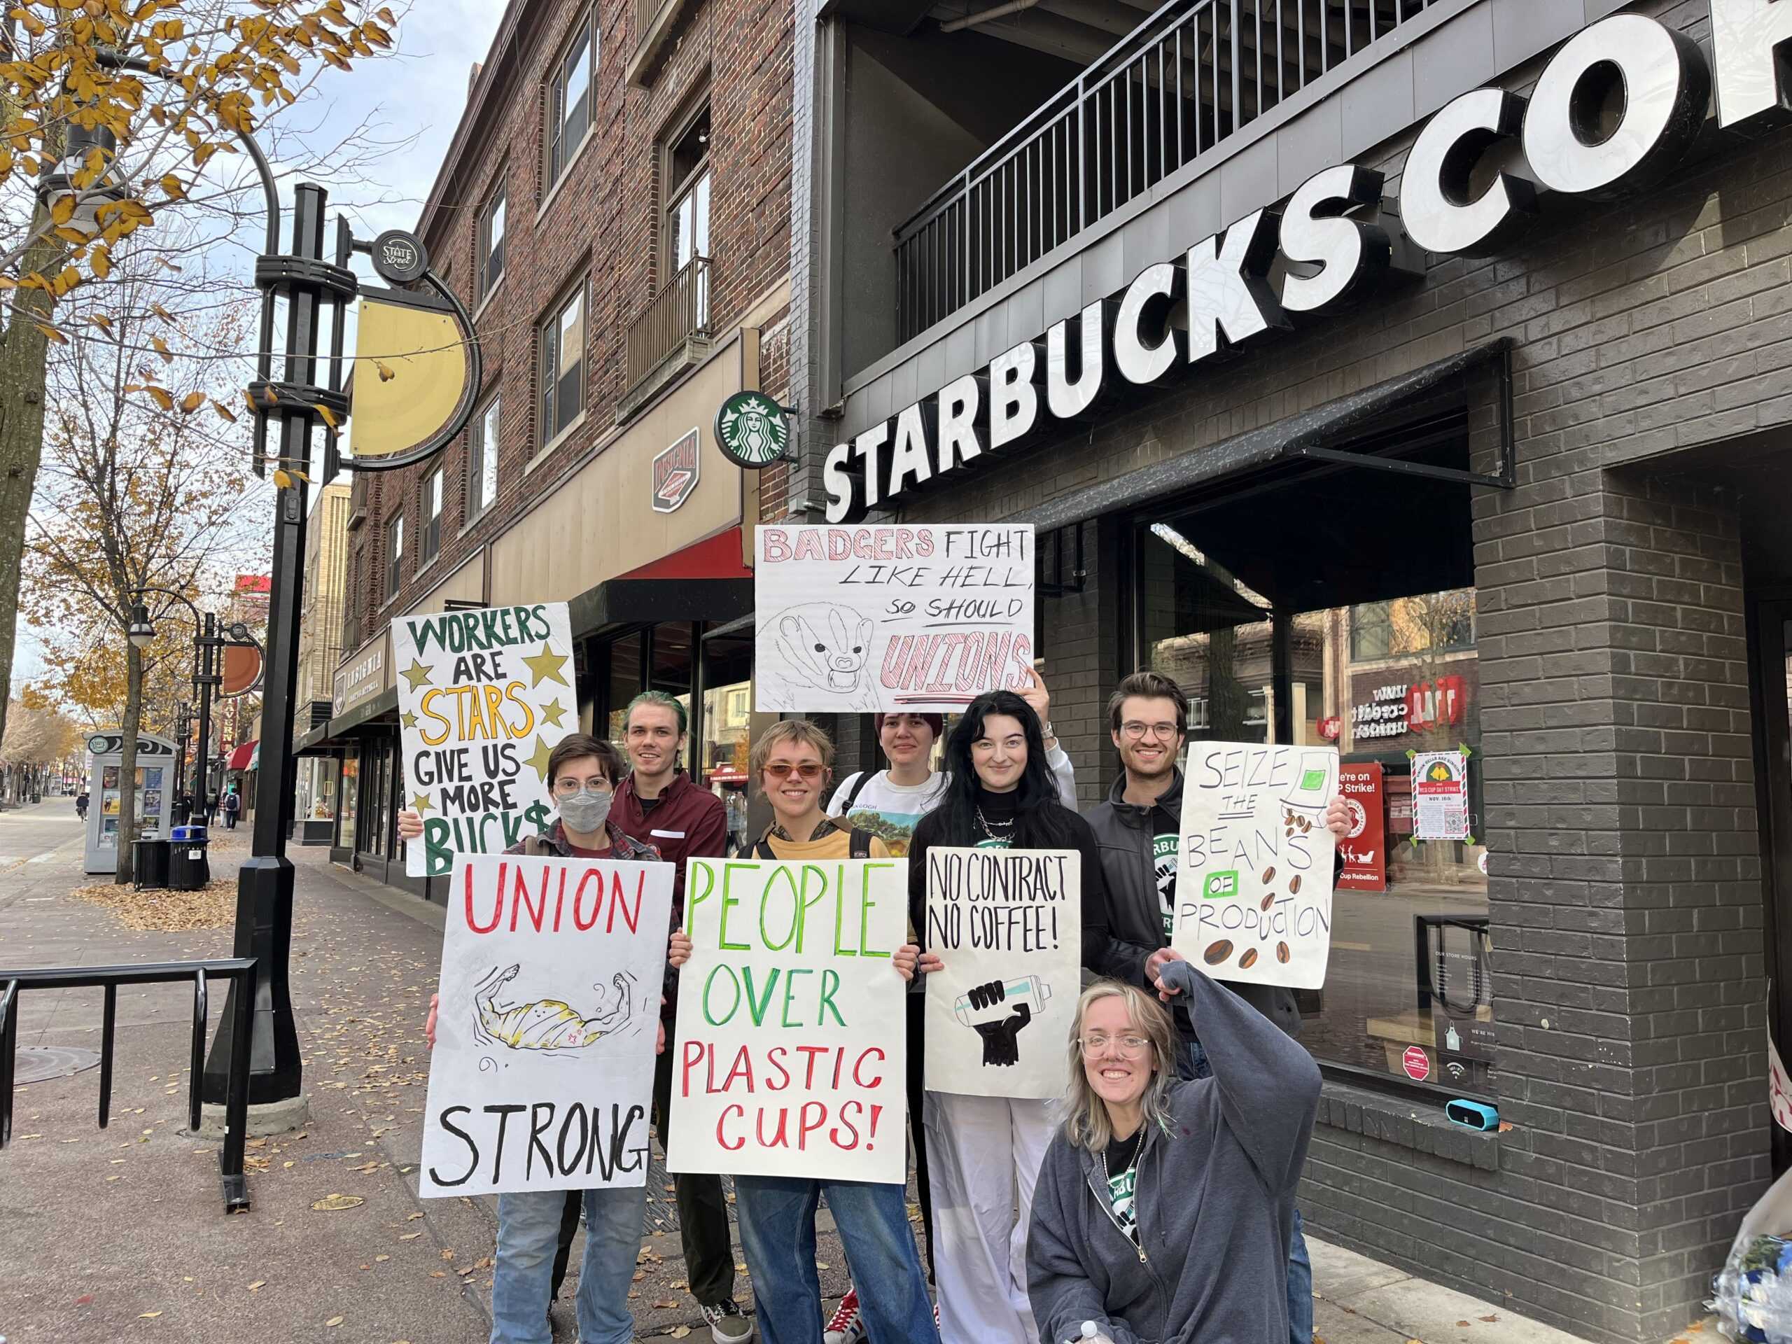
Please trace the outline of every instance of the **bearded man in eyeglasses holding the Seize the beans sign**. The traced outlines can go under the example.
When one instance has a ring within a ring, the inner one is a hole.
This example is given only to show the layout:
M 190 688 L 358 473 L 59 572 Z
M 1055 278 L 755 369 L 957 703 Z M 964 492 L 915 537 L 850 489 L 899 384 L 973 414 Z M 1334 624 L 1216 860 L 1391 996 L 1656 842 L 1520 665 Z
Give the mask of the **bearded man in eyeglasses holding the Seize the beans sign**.
M 1183 961 L 1170 946 L 1170 932 L 1176 926 L 1176 860 L 1183 833 L 1183 771 L 1177 760 L 1186 722 L 1188 697 L 1170 677 L 1158 672 L 1125 677 L 1107 701 L 1107 726 L 1125 771 L 1115 780 L 1107 801 L 1082 814 L 1100 848 L 1115 946 L 1136 953 L 1134 982 L 1167 998 L 1174 991 L 1163 984 L 1163 966 Z M 1333 797 L 1326 808 L 1326 828 L 1333 835 L 1349 833 L 1349 808 L 1342 797 Z M 1301 1009 L 1292 989 L 1263 984 L 1226 987 L 1290 1038 L 1301 1034 Z M 1188 1009 L 1174 998 L 1170 1002 L 1181 1038 L 1181 1073 L 1208 1077 L 1206 1048 Z M 1299 1210 L 1288 1242 L 1288 1333 L 1294 1344 L 1312 1344 L 1314 1271 Z

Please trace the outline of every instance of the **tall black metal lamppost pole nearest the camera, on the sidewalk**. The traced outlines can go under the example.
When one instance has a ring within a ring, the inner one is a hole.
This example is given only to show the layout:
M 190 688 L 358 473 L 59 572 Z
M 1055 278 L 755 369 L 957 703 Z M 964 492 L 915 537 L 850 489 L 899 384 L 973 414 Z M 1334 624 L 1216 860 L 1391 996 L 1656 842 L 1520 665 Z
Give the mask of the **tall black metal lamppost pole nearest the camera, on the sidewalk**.
M 301 183 L 292 204 L 290 258 L 323 262 L 324 190 Z M 294 269 L 294 276 L 301 274 Z M 323 290 L 303 278 L 285 285 L 287 292 L 287 385 L 314 387 L 317 382 L 317 337 Z M 262 303 L 272 305 L 272 287 Z M 310 466 L 312 418 L 305 401 L 280 400 L 265 410 L 280 419 L 280 466 L 289 473 Z M 276 482 L 274 563 L 267 607 L 267 683 L 262 697 L 262 765 L 256 778 L 254 835 L 249 860 L 237 882 L 238 957 L 254 957 L 254 1005 L 249 1047 L 249 1104 L 267 1106 L 296 1098 L 303 1082 L 299 1036 L 292 1021 L 292 995 L 287 984 L 292 952 L 292 860 L 287 858 L 287 828 L 292 817 L 292 690 L 299 674 L 299 616 L 305 584 L 303 475 L 290 484 Z M 240 986 L 231 986 L 231 996 Z M 204 1098 L 222 1104 L 229 1093 L 229 1059 L 238 1016 L 226 1005 L 224 1021 L 206 1059 Z

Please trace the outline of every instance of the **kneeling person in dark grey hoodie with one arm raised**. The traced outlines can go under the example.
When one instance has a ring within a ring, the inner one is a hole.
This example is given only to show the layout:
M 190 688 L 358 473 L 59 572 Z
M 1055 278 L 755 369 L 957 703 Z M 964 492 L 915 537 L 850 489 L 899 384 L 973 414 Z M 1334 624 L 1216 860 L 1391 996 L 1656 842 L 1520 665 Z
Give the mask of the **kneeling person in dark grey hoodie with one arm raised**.
M 1176 1029 L 1143 989 L 1098 980 L 1082 993 L 1064 1124 L 1027 1238 L 1039 1344 L 1077 1340 L 1084 1322 L 1113 1344 L 1287 1344 L 1319 1068 L 1188 962 L 1161 975 L 1213 1075 L 1176 1077 Z

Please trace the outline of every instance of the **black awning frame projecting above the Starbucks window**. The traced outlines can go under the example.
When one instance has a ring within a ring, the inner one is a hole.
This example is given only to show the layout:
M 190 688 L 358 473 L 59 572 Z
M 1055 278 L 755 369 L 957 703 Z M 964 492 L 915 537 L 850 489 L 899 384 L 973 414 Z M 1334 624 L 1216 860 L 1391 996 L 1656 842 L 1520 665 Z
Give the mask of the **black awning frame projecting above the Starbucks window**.
M 1340 453 L 1333 444 L 1358 437 L 1374 419 L 1423 400 L 1441 383 L 1491 360 L 1505 360 L 1512 349 L 1509 337 L 1489 340 L 1460 355 L 1426 364 L 1398 378 L 1389 378 L 1360 392 L 1288 416 L 1274 425 L 1263 425 L 1231 439 L 1210 443 L 1163 462 L 1152 462 L 1124 477 L 1102 480 L 1088 489 L 1052 500 L 1007 521 L 1032 523 L 1041 532 L 1098 518 L 1116 509 L 1210 486 L 1226 477 L 1238 477 L 1281 462 L 1322 459 L 1346 466 L 1366 466 L 1387 471 L 1410 471 L 1434 478 L 1459 480 L 1475 486 L 1511 486 L 1511 412 L 1502 407 L 1505 464 L 1500 477 L 1478 475 L 1452 468 L 1401 462 L 1369 453 Z M 1509 380 L 1507 380 L 1509 382 Z

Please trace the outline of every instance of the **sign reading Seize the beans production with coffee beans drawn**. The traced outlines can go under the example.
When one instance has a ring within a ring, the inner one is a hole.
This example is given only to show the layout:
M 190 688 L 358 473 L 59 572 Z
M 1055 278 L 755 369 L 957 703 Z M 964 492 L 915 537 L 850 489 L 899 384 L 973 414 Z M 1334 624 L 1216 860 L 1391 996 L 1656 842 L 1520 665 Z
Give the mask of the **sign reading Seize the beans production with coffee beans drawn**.
M 1335 747 L 1190 744 L 1170 944 L 1215 980 L 1324 984 L 1337 780 Z

